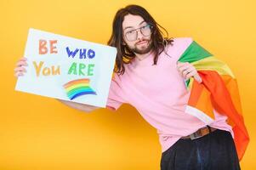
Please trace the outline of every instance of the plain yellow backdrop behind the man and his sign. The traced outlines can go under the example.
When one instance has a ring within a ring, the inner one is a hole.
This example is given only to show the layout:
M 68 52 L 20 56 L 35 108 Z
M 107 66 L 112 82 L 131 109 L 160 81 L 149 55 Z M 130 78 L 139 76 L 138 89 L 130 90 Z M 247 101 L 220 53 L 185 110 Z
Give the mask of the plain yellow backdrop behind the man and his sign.
M 147 8 L 169 37 L 193 37 L 230 65 L 251 137 L 242 169 L 256 168 L 255 1 L 1 0 L 0 170 L 159 169 L 156 130 L 132 106 L 85 114 L 14 91 L 30 27 L 106 43 L 114 14 L 130 3 Z

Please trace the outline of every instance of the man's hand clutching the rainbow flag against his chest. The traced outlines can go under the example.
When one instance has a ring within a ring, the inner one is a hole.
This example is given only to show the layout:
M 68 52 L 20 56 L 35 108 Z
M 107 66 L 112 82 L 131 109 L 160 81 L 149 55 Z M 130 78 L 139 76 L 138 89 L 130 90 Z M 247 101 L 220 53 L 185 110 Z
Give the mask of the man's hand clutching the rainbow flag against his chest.
M 189 62 L 181 63 L 178 61 L 177 69 L 179 71 L 180 76 L 185 78 L 185 81 L 187 81 L 191 77 L 194 77 L 196 82 L 202 82 L 202 78 L 199 76 L 198 72 L 196 71 L 196 68 Z

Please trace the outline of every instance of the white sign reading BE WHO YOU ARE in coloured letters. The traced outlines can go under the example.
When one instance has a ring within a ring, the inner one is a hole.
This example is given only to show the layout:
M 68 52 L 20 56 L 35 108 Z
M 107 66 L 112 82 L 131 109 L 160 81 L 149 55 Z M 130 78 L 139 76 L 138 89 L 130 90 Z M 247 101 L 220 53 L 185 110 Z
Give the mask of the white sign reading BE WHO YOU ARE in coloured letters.
M 105 107 L 117 49 L 30 29 L 15 90 Z

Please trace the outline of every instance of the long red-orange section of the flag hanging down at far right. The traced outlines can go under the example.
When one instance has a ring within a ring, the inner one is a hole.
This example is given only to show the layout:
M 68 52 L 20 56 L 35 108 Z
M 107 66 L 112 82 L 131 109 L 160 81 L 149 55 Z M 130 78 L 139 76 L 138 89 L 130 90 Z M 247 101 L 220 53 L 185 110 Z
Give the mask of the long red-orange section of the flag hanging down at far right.
M 229 77 L 220 77 L 216 71 L 198 71 L 204 87 L 211 93 L 213 107 L 219 113 L 228 116 L 233 122 L 234 142 L 239 160 L 242 159 L 249 142 L 247 129 L 243 122 L 241 105 L 236 81 Z M 196 82 L 196 81 L 194 81 Z

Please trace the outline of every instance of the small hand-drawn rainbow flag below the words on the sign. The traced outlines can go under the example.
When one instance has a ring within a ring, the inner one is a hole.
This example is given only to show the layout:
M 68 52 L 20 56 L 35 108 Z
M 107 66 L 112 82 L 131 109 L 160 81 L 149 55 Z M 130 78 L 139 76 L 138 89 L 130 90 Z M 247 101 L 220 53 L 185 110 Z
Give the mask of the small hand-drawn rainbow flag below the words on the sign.
M 69 99 L 76 99 L 77 97 L 85 94 L 96 94 L 92 88 L 89 87 L 90 79 L 82 78 L 66 82 L 63 87 Z

